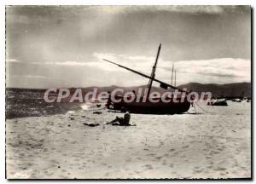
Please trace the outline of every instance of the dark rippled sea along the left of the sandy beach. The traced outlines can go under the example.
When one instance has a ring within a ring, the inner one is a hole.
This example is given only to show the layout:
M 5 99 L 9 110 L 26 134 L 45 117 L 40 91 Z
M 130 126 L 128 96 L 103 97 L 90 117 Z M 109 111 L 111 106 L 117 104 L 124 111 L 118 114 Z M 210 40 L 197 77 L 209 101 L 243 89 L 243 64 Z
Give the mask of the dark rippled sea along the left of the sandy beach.
M 79 109 L 81 109 L 79 103 L 45 102 L 44 90 L 6 90 L 6 118 L 40 117 Z

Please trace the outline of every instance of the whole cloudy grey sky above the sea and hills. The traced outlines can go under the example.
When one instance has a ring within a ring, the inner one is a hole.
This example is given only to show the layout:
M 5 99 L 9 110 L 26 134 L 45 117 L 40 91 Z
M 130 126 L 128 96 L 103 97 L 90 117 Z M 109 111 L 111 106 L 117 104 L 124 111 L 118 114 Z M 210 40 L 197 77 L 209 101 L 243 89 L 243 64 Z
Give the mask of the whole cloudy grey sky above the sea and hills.
M 6 86 L 177 85 L 251 80 L 248 6 L 7 6 Z M 158 83 L 154 83 L 158 85 Z

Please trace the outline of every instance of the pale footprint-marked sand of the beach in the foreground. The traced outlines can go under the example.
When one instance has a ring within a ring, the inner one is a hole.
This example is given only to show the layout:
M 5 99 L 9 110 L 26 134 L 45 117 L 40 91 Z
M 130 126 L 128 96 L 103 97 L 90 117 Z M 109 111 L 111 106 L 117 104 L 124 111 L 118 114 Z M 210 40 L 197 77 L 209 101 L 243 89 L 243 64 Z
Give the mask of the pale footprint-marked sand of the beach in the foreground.
M 103 124 L 122 115 L 107 110 L 8 119 L 7 177 L 251 177 L 250 103 L 229 104 L 204 106 L 214 115 L 131 114 L 136 127 Z

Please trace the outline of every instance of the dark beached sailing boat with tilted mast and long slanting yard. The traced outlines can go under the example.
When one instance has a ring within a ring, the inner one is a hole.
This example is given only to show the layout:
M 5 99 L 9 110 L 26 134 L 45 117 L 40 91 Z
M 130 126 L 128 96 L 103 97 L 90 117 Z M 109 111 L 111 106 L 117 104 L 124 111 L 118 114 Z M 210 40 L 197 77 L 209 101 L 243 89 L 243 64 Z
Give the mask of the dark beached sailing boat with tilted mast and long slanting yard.
M 117 63 L 114 63 L 113 61 L 103 59 L 105 61 L 108 61 L 109 63 L 112 63 L 113 65 L 122 67 L 125 70 L 137 73 L 138 75 L 149 79 L 148 88 L 147 88 L 148 92 L 147 92 L 146 96 L 138 96 L 139 99 L 143 99 L 143 98 L 146 97 L 145 98 L 146 101 L 126 102 L 126 101 L 124 101 L 124 98 L 125 98 L 124 95 L 115 95 L 114 96 L 115 99 L 118 99 L 119 102 L 114 102 L 114 101 L 111 100 L 111 95 L 109 95 L 108 102 L 106 104 L 108 109 L 121 111 L 125 107 L 129 112 L 150 113 L 150 114 L 175 114 L 175 113 L 183 113 L 183 112 L 189 111 L 190 102 L 186 98 L 186 96 L 189 94 L 189 92 L 184 91 L 183 89 L 178 89 L 176 86 L 173 86 L 173 85 L 168 84 L 168 83 L 164 83 L 164 82 L 154 78 L 155 77 L 156 66 L 157 66 L 157 61 L 158 61 L 158 58 L 159 58 L 159 55 L 160 55 L 160 49 L 161 49 L 161 43 L 160 43 L 160 46 L 158 48 L 156 59 L 155 59 L 154 66 L 152 68 L 152 72 L 151 72 L 150 76 L 148 76 L 146 74 L 143 74 L 142 72 L 137 72 L 137 71 L 135 71 L 131 68 L 128 68 L 126 66 L 121 66 Z M 160 88 L 163 88 L 163 89 L 168 89 L 168 88 L 177 89 L 179 92 L 183 92 L 186 96 L 185 96 L 185 98 L 183 98 L 184 99 L 183 101 L 181 101 L 182 96 L 173 96 L 173 95 L 172 96 L 166 96 L 166 98 L 167 98 L 166 100 L 168 100 L 168 98 L 169 98 L 169 100 L 170 100 L 169 102 L 161 101 L 160 97 L 150 97 L 150 91 L 152 89 L 152 83 L 153 82 L 160 83 Z M 155 100 L 160 100 L 160 101 L 158 101 L 158 102 L 150 101 L 153 98 L 154 98 L 154 101 Z M 173 101 L 174 98 L 176 100 L 175 102 Z M 137 98 L 135 98 L 135 99 L 137 99 Z

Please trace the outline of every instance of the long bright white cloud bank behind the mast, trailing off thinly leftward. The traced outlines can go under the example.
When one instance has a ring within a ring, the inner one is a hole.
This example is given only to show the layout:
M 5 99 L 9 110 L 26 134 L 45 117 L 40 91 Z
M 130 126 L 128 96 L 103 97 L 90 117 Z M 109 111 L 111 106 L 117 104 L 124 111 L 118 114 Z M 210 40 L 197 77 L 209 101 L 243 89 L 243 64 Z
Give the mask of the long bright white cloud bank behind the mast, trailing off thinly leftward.
M 124 83 L 124 85 L 132 85 L 130 77 L 140 79 L 136 74 L 126 71 L 119 66 L 115 66 L 102 59 L 111 60 L 119 65 L 130 67 L 131 69 L 143 72 L 146 75 L 150 75 L 152 66 L 154 65 L 154 57 L 147 57 L 145 55 L 117 55 L 113 53 L 93 53 L 93 58 L 88 61 L 56 61 L 56 62 L 32 62 L 33 65 L 40 65 L 48 67 L 49 70 L 63 67 L 72 71 L 84 70 L 84 77 L 88 83 L 93 85 L 105 81 L 104 78 L 109 76 L 114 78 L 111 84 Z M 177 82 L 189 83 L 236 83 L 236 82 L 250 82 L 251 78 L 251 62 L 245 59 L 234 58 L 218 58 L 211 60 L 159 60 L 156 77 L 166 83 L 171 83 L 172 78 L 172 64 L 174 63 L 175 70 L 177 71 Z M 54 69 L 54 70 L 55 70 Z M 66 69 L 65 69 L 66 70 Z M 104 73 L 104 75 L 99 75 Z M 123 78 L 122 78 L 123 76 Z M 32 78 L 32 76 L 25 76 L 23 78 Z M 43 78 L 43 77 L 34 77 Z M 94 80 L 91 80 L 94 78 Z M 142 78 L 143 79 L 143 78 Z M 124 82 L 125 81 L 125 82 Z M 143 80 L 141 81 L 143 82 Z

